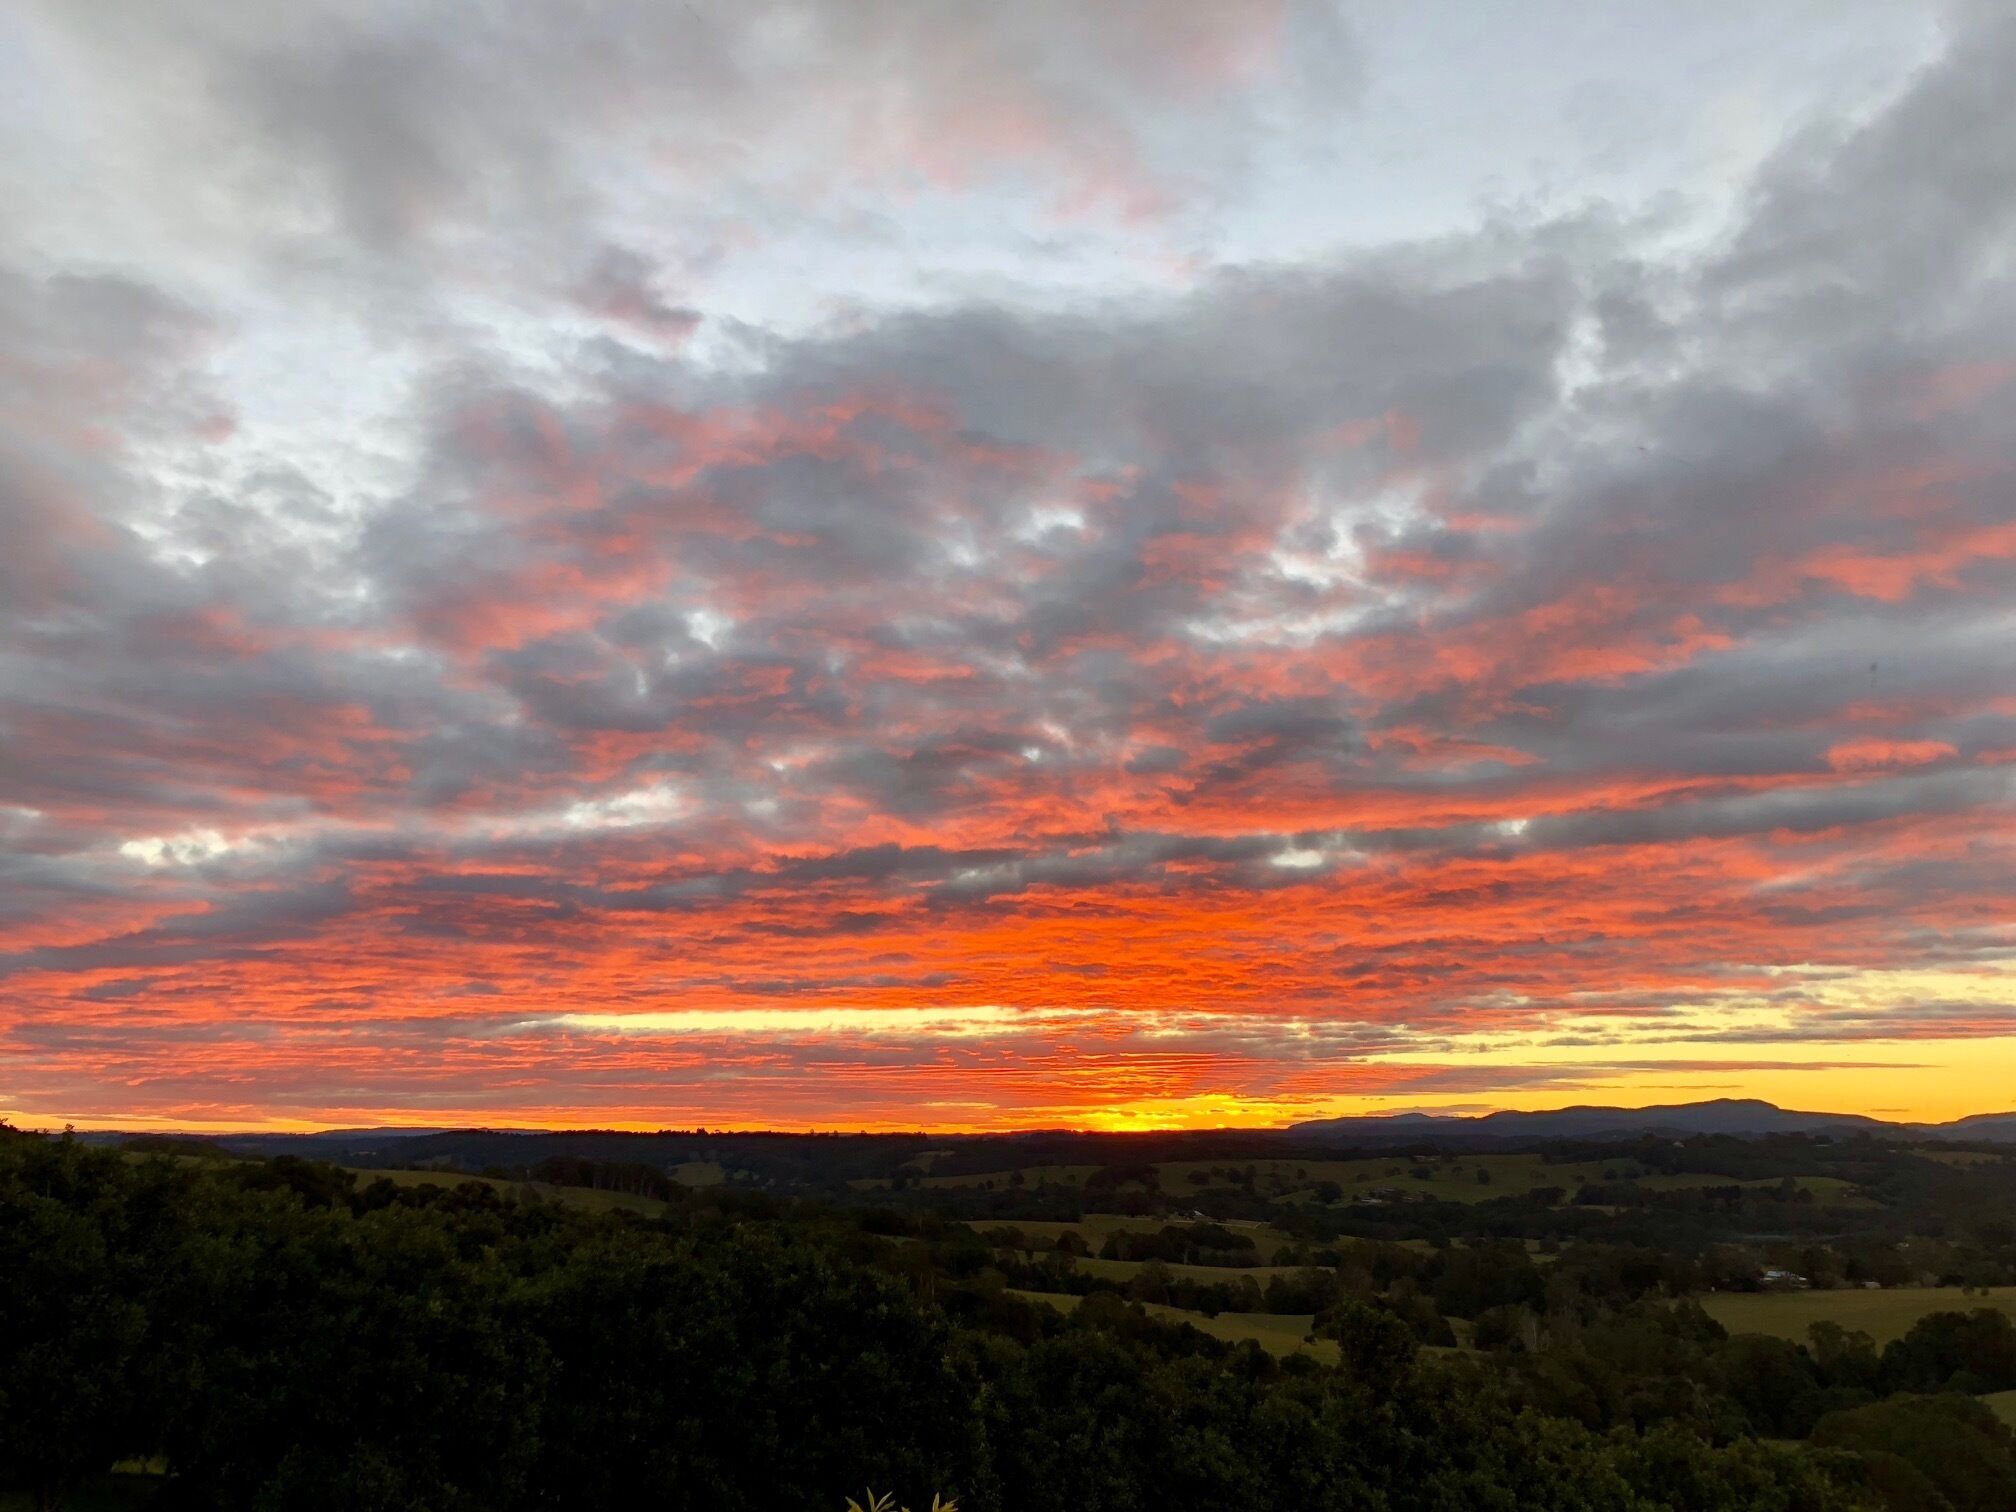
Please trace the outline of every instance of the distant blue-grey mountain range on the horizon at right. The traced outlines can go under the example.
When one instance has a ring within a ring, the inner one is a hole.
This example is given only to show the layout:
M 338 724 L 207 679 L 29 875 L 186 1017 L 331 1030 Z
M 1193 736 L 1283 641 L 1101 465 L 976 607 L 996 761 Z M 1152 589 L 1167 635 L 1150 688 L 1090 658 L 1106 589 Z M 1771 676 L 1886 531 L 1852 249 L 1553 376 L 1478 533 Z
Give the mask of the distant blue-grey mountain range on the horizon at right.
M 1341 1143 L 1395 1143 L 1421 1139 L 1593 1139 L 1607 1135 L 1881 1135 L 1891 1139 L 2010 1139 L 2016 1113 L 1976 1113 L 1951 1123 L 1887 1123 L 1863 1113 L 1798 1113 L 1754 1097 L 1718 1097 L 1708 1103 L 1663 1107 L 1562 1107 L 1544 1113 L 1387 1113 L 1353 1119 L 1310 1119 L 1286 1133 Z

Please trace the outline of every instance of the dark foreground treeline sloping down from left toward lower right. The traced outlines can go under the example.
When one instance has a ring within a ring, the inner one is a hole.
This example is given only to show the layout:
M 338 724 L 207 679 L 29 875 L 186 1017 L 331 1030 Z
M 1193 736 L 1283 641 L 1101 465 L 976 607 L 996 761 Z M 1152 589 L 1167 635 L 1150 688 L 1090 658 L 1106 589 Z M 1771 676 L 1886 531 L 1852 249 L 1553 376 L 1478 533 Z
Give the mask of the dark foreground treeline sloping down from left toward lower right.
M 784 1204 L 587 1216 L 4 1133 L 0 1480 L 58 1506 L 141 1460 L 157 1506 L 222 1512 L 774 1512 L 867 1482 L 968 1512 L 1881 1494 L 1847 1439 L 1542 1413 L 1377 1308 L 1327 1318 L 1341 1367 L 1276 1363 L 1117 1296 L 1066 1318 L 929 1250 Z

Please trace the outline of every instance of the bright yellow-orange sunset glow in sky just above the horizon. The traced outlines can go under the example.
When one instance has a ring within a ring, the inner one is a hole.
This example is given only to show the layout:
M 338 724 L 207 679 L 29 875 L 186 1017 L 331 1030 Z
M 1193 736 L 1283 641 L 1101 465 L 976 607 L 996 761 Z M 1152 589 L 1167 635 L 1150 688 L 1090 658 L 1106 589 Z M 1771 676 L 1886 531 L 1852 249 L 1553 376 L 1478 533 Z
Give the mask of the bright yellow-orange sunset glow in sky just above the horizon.
M 1760 968 L 1766 970 L 1766 968 Z M 0 1117 L 26 1129 L 123 1129 L 185 1133 L 314 1133 L 349 1127 L 492 1127 L 492 1129 L 689 1129 L 863 1131 L 863 1133 L 1004 1133 L 1014 1129 L 1175 1131 L 1256 1129 L 1302 1119 L 1391 1113 L 1401 1109 L 1488 1113 L 1540 1111 L 1579 1103 L 1645 1107 L 1718 1097 L 1764 1099 L 1788 1109 L 1863 1113 L 1899 1123 L 1941 1123 L 2016 1105 L 2016 1034 L 1992 1030 L 2016 1004 L 2016 968 L 1988 962 L 1974 970 L 1833 972 L 1810 966 L 1768 968 L 1788 992 L 1710 996 L 1659 1012 L 1611 1010 L 1579 1002 L 1572 1012 L 1514 1018 L 1476 1032 L 1399 1034 L 1391 1048 L 1349 1048 L 1343 1016 L 1248 1016 L 1185 1010 L 1010 1008 L 881 1004 L 806 1010 L 704 1008 L 641 1014 L 548 1014 L 524 1030 L 562 1030 L 609 1038 L 714 1036 L 750 1044 L 831 1040 L 845 1060 L 849 1040 L 911 1038 L 998 1046 L 1000 1054 L 1068 1048 L 1068 1060 L 1040 1077 L 996 1083 L 986 1070 L 966 1079 L 948 1064 L 943 1093 L 917 1099 L 913 1089 L 879 1095 L 875 1064 L 859 1081 L 837 1066 L 827 1081 L 847 1099 L 821 1103 L 796 1083 L 776 1093 L 776 1111 L 752 1111 L 756 1099 L 730 1073 L 716 1083 L 720 1101 L 704 1105 L 704 1085 L 667 1089 L 665 1105 L 520 1103 L 486 1107 L 474 1089 L 458 1105 L 294 1105 L 266 1113 L 192 1105 L 187 1115 L 161 1107 L 14 1107 Z M 1913 1018 L 1911 1010 L 1925 1006 Z M 1514 1010 L 1520 1012 L 1520 1010 Z M 1820 1030 L 1845 1038 L 1822 1038 Z M 1939 1032 L 1939 1030 L 1947 1032 Z M 1339 1050 L 1325 1058 L 1327 1032 Z M 1917 1030 L 1921 1038 L 1909 1038 Z M 1968 1030 L 1968 1032 L 1962 1032 Z M 1889 1032 L 1891 1038 L 1869 1038 Z M 1280 1044 L 1274 1058 L 1270 1044 Z M 1206 1062 L 1185 1081 L 1143 1056 L 1177 1052 Z M 1228 1048 L 1232 1046 L 1232 1048 Z M 1290 1048 L 1292 1046 L 1292 1052 Z M 962 1050 L 964 1052 L 964 1050 Z M 1224 1075 L 1210 1062 L 1224 1056 Z M 814 1079 L 816 1081 L 816 1079 Z M 1014 1089 L 1014 1091 L 1008 1091 Z M 738 1097 L 740 1093 L 740 1097 Z M 687 1101 L 691 1099 L 691 1101 Z M 14 1093 L 12 1101 L 20 1101 Z

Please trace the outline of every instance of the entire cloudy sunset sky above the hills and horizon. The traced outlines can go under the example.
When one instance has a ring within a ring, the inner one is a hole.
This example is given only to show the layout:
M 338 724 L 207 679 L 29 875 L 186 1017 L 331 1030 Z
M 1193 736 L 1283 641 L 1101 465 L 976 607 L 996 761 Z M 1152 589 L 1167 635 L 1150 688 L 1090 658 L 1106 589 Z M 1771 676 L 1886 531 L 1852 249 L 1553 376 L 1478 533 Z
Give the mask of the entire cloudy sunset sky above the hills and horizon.
M 0 1117 L 2012 1107 L 2012 75 L 8 0 Z

